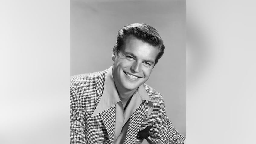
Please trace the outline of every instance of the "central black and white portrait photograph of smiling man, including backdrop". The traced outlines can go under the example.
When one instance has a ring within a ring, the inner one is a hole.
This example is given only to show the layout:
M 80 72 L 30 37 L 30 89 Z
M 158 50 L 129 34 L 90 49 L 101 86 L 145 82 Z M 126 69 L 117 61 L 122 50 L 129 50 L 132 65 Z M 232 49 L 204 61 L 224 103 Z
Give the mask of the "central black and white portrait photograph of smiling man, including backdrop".
M 70 1 L 70 143 L 183 144 L 185 30 L 185 1 Z

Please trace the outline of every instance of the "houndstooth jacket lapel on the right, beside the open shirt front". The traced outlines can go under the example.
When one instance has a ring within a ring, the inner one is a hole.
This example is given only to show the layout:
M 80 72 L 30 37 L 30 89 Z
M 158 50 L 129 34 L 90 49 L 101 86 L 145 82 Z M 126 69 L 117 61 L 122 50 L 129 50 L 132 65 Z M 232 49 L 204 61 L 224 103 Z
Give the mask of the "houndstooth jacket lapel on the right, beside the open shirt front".
M 131 115 L 126 138 L 124 140 L 125 144 L 134 143 L 134 140 L 139 132 L 139 128 L 142 125 L 144 118 L 147 116 L 147 109 L 146 101 L 143 101 L 142 104 Z

